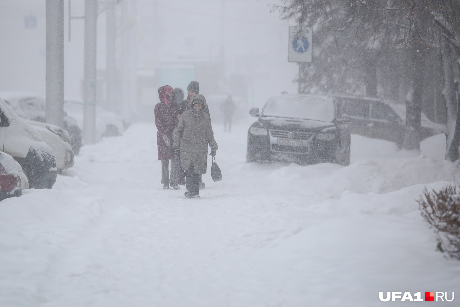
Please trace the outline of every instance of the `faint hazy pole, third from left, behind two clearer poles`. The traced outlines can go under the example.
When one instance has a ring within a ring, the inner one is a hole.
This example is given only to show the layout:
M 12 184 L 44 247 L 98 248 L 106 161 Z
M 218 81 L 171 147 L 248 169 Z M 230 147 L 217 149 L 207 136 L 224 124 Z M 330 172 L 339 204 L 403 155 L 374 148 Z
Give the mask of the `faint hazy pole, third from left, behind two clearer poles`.
M 107 109 L 114 111 L 115 108 L 115 40 L 116 40 L 116 24 L 115 24 L 115 1 L 109 4 L 106 12 L 107 18 Z

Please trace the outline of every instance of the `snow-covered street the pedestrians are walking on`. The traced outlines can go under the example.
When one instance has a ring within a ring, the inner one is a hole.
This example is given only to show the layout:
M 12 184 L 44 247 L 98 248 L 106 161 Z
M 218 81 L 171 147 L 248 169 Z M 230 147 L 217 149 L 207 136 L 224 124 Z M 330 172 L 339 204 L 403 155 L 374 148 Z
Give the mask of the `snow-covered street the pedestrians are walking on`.
M 444 135 L 422 142 L 425 156 L 352 135 L 348 167 L 263 165 L 245 163 L 248 123 L 214 125 L 223 180 L 209 158 L 199 199 L 162 190 L 155 125 L 137 123 L 82 147 L 52 190 L 2 201 L 0 306 L 356 307 L 385 304 L 379 291 L 460 294 L 460 262 L 435 251 L 416 202 L 460 182 Z

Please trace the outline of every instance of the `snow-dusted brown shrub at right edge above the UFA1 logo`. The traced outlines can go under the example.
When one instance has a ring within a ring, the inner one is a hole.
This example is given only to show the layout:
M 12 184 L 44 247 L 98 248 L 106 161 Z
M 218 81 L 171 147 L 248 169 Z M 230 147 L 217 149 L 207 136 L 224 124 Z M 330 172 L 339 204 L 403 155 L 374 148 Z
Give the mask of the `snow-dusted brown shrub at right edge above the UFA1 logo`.
M 419 200 L 425 220 L 437 232 L 437 249 L 460 260 L 460 187 L 447 185 L 441 191 L 425 189 Z

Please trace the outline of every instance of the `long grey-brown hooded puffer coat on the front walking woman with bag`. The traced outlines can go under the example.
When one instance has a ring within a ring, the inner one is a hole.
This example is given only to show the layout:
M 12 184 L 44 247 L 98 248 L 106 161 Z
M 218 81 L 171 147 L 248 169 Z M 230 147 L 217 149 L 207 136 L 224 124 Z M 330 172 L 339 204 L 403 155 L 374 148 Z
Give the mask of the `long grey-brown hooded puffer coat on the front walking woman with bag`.
M 196 100 L 203 104 L 203 108 L 199 111 L 192 107 Z M 188 170 L 190 162 L 193 162 L 193 169 L 197 174 L 206 174 L 207 145 L 209 144 L 212 150 L 218 148 L 214 140 L 211 118 L 203 112 L 204 106 L 207 106 L 204 96 L 201 94 L 193 95 L 190 99 L 191 110 L 182 113 L 179 124 L 173 133 L 174 148 L 180 149 L 182 169 Z

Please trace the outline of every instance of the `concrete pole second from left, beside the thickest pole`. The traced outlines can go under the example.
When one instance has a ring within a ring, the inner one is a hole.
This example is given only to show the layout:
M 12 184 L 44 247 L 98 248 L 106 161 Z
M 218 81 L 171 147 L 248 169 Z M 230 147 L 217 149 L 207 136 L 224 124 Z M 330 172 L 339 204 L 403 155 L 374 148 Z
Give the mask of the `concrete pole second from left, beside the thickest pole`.
M 85 0 L 85 52 L 83 69 L 83 140 L 96 143 L 96 38 L 98 0 Z

